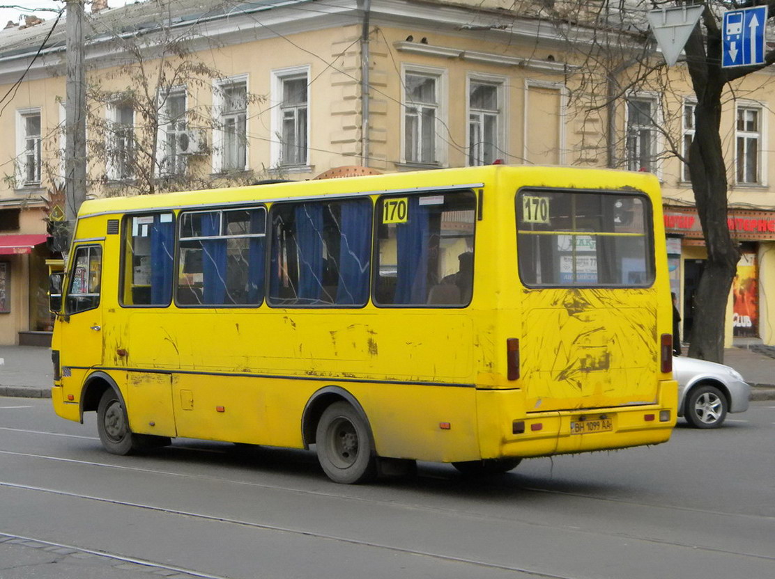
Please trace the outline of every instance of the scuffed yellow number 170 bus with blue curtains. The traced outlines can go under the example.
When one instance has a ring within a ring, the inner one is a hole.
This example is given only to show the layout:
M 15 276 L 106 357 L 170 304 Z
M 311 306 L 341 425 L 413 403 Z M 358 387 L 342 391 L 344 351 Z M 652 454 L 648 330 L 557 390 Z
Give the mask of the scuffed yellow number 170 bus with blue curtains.
M 88 200 L 57 414 L 108 452 L 309 448 L 333 481 L 658 444 L 676 420 L 659 185 L 484 166 Z

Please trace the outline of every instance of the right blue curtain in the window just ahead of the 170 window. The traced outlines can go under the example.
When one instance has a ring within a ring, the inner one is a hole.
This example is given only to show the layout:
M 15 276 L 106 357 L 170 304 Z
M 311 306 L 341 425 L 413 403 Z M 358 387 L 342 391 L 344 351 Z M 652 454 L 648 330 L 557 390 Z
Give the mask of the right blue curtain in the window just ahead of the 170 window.
M 339 285 L 336 303 L 360 305 L 369 299 L 371 202 L 343 201 L 339 218 Z

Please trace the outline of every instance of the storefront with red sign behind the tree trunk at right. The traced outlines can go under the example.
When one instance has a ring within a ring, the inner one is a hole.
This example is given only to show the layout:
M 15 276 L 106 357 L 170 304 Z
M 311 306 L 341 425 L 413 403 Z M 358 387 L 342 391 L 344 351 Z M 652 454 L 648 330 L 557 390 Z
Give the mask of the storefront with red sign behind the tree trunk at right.
M 700 218 L 694 207 L 664 207 L 670 289 L 678 296 L 682 318 L 681 337 L 691 341 L 694 326 L 694 294 L 704 269 L 705 248 Z M 729 296 L 725 345 L 750 342 L 775 343 L 767 296 L 775 296 L 775 211 L 730 209 L 727 226 L 740 244 L 737 276 Z M 770 298 L 775 299 L 775 298 Z

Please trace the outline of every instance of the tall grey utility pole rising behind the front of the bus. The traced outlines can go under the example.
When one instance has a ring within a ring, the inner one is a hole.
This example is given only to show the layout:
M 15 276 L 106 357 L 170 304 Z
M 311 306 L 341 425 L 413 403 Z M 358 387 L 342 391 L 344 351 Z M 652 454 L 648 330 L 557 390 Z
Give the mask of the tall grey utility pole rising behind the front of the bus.
M 86 82 L 84 79 L 84 0 L 67 2 L 67 102 L 65 103 L 65 215 L 70 239 L 78 208 L 86 199 Z M 68 240 L 69 241 L 69 240 Z

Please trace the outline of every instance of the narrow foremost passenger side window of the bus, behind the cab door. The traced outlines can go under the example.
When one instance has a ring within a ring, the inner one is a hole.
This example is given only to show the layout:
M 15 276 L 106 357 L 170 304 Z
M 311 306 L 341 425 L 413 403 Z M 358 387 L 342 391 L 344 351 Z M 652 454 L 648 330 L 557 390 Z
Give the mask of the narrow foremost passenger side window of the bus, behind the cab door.
M 174 217 L 168 212 L 125 218 L 122 305 L 169 305 L 174 230 Z

